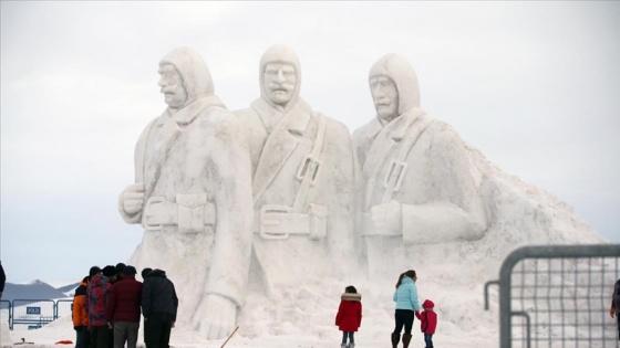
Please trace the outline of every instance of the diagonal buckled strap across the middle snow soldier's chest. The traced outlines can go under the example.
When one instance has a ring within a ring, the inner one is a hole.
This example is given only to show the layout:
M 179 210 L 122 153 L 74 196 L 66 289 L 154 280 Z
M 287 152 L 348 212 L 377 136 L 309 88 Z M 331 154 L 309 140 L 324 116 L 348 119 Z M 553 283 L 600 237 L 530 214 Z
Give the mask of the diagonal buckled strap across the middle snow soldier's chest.
M 317 137 L 314 138 L 314 146 L 312 147 L 312 151 L 303 157 L 301 166 L 297 171 L 297 179 L 301 180 L 301 184 L 299 186 L 294 203 L 292 204 L 292 210 L 294 212 L 302 212 L 306 201 L 308 200 L 310 186 L 317 180 L 319 169 L 321 168 L 321 152 L 326 138 L 327 120 L 321 113 L 316 113 L 316 115 L 319 118 L 319 126 L 317 129 Z

